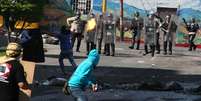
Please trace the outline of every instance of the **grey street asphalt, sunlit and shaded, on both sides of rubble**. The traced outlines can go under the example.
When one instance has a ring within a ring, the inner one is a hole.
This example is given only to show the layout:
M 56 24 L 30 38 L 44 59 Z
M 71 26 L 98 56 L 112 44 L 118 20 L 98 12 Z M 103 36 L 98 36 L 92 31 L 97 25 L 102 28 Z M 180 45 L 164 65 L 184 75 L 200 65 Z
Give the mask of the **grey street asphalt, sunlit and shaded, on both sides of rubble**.
M 100 63 L 94 74 L 100 83 L 111 86 L 139 82 L 178 81 L 186 88 L 201 84 L 201 50 L 189 52 L 187 48 L 174 47 L 173 55 L 156 54 L 143 56 L 141 50 L 130 50 L 128 43 L 118 42 L 114 57 L 101 55 Z M 73 68 L 66 60 L 67 76 L 64 76 L 58 63 L 59 46 L 47 45 L 46 62 L 36 65 L 34 80 L 42 82 L 49 77 L 68 79 Z M 86 58 L 85 43 L 81 52 L 74 53 L 76 63 Z M 201 101 L 201 96 L 165 91 L 136 91 L 115 88 L 102 89 L 96 93 L 86 91 L 89 101 Z M 61 86 L 34 86 L 31 101 L 73 101 L 71 96 L 61 92 Z

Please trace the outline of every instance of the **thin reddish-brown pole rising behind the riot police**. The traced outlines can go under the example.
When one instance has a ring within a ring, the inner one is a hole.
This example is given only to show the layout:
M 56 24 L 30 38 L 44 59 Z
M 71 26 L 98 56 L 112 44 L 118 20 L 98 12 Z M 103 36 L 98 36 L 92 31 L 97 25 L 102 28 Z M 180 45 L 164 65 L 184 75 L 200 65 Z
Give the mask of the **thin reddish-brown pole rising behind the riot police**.
M 123 32 L 123 0 L 120 0 L 120 39 L 121 41 L 124 41 L 124 32 Z

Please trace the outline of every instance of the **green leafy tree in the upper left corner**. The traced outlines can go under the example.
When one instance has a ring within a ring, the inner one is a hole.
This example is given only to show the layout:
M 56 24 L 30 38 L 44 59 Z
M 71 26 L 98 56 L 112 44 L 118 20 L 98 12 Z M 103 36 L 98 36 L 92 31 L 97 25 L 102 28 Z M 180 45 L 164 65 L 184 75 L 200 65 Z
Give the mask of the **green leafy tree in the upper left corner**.
M 18 20 L 39 21 L 45 2 L 46 0 L 0 0 L 0 15 L 4 17 L 8 33 L 14 31 Z

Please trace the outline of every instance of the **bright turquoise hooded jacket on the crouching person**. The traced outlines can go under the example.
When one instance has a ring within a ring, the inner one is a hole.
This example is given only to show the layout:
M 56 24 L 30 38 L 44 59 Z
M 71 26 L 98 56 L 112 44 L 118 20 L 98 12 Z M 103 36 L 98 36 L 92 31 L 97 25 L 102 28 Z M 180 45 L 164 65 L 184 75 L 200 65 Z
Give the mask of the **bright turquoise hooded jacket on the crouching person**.
M 90 86 L 93 83 L 92 71 L 98 64 L 100 55 L 96 49 L 90 51 L 86 60 L 77 67 L 73 75 L 68 81 L 68 86 L 71 88 L 82 88 Z

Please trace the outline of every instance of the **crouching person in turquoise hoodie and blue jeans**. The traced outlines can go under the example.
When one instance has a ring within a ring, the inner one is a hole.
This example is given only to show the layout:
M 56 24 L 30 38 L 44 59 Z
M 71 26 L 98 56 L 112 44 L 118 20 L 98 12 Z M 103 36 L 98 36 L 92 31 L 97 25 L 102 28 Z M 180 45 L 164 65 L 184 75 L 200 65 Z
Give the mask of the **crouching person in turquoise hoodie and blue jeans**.
M 97 84 L 91 74 L 98 64 L 99 58 L 98 51 L 96 49 L 91 50 L 88 58 L 77 67 L 70 77 L 68 90 L 75 101 L 88 101 L 87 96 L 84 94 L 87 86 L 91 86 L 94 92 L 97 91 Z

